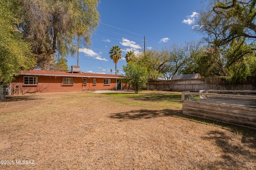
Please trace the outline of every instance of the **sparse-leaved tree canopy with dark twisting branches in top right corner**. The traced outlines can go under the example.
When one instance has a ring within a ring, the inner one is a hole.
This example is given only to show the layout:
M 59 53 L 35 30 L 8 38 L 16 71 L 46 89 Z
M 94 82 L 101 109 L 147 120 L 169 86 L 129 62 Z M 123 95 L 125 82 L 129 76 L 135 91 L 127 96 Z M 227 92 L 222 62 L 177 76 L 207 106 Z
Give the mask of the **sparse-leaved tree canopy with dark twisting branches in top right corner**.
M 255 40 L 255 5 L 255 0 L 213 0 L 209 10 L 201 12 L 197 31 L 217 47 L 241 37 Z

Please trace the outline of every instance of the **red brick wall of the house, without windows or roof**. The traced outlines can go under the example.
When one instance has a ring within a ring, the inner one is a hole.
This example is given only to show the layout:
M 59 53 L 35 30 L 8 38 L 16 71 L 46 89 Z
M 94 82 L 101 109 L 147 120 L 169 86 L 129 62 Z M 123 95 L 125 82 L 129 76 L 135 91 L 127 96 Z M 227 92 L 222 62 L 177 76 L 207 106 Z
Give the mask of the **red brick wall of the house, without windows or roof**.
M 12 95 L 25 93 L 51 93 L 51 92 L 69 92 L 69 91 L 90 91 L 93 90 L 116 90 L 116 79 L 110 79 L 110 85 L 104 85 L 104 78 L 96 78 L 96 85 L 93 85 L 93 78 L 86 78 L 87 84 L 83 86 L 82 77 L 73 77 L 73 85 L 63 85 L 62 78 L 56 76 L 29 76 L 38 77 L 38 85 L 24 85 L 24 76 L 19 75 L 16 80 L 10 83 Z M 72 78 L 72 77 L 70 77 Z M 19 87 L 17 87 L 19 85 Z M 122 83 L 122 89 L 126 89 L 126 85 Z

